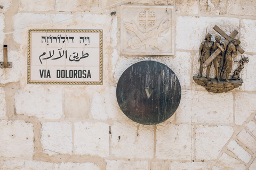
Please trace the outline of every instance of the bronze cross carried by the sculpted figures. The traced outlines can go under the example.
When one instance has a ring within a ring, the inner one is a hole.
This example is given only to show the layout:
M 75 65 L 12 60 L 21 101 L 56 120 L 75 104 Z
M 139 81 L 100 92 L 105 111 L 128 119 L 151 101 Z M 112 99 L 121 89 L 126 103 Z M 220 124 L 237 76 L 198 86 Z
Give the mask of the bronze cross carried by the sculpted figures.
M 226 41 L 224 42 L 225 46 L 227 47 L 227 45 L 231 42 L 231 40 L 233 40 L 236 35 L 238 34 L 237 30 L 234 30 L 230 36 L 228 36 L 224 31 L 222 31 L 217 25 L 215 25 L 213 27 L 213 29 L 215 31 L 217 31 L 222 37 L 226 38 Z M 242 49 L 241 46 L 238 46 L 238 52 L 240 52 L 241 54 L 244 53 L 244 50 Z M 221 50 L 220 48 L 218 48 L 217 50 L 215 50 L 215 52 L 204 62 L 204 64 L 202 65 L 204 68 L 207 67 L 207 65 L 209 65 L 213 59 L 215 57 L 217 57 L 220 54 Z

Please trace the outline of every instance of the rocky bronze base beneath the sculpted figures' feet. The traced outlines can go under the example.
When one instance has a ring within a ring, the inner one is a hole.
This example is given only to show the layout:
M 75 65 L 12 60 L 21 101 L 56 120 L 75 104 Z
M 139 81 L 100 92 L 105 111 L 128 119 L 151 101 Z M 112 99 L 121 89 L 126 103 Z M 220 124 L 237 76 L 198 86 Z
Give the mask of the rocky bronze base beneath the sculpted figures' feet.
M 229 80 L 230 82 L 220 80 L 220 83 L 218 83 L 216 79 L 208 80 L 205 77 L 197 78 L 197 76 L 194 76 L 193 79 L 197 84 L 205 87 L 207 91 L 215 93 L 228 92 L 241 86 L 243 83 L 243 80 Z

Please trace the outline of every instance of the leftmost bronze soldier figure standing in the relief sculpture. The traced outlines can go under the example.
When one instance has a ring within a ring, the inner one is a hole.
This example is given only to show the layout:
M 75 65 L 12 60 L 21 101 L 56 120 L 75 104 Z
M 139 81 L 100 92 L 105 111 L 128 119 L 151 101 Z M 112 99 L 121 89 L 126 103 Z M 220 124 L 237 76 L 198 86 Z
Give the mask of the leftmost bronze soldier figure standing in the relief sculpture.
M 211 41 L 212 39 L 212 35 L 210 33 L 207 33 L 206 37 L 205 37 L 205 41 L 203 41 L 201 43 L 201 46 L 199 47 L 199 60 L 198 62 L 200 62 L 200 68 L 199 68 L 199 73 L 197 75 L 197 78 L 201 78 L 202 77 L 202 73 L 203 73 L 203 63 L 211 56 L 211 50 L 213 50 L 214 47 L 214 43 L 213 41 Z M 206 70 L 206 78 L 209 78 L 209 73 L 210 73 L 210 69 L 211 69 L 211 64 L 207 65 L 207 70 Z

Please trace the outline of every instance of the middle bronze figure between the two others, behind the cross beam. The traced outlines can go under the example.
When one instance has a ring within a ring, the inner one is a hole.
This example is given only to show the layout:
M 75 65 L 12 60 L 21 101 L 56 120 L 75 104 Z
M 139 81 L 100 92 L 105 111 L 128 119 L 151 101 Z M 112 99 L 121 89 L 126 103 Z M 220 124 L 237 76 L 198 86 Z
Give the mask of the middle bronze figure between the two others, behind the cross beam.
M 220 48 L 220 50 L 222 51 L 222 52 L 224 52 L 224 49 L 226 49 L 226 46 L 225 46 L 225 44 L 223 44 L 223 43 L 220 43 L 220 39 L 221 39 L 221 37 L 220 36 L 216 36 L 215 37 L 215 42 L 214 42 L 214 50 L 217 50 L 218 48 Z M 223 45 L 223 48 L 222 48 L 222 46 L 221 45 Z M 217 78 L 217 80 L 218 80 L 218 83 L 220 83 L 220 78 L 219 78 L 219 75 L 220 75 L 220 68 L 221 68 L 221 58 L 222 58 L 222 53 L 219 53 L 218 55 L 217 55 L 217 57 L 215 57 L 214 59 L 213 59 L 213 65 L 214 65 L 214 67 L 215 67 L 215 70 L 216 70 L 216 78 Z

